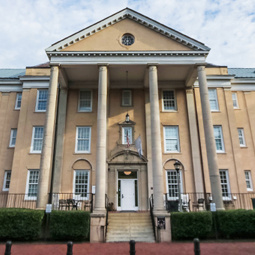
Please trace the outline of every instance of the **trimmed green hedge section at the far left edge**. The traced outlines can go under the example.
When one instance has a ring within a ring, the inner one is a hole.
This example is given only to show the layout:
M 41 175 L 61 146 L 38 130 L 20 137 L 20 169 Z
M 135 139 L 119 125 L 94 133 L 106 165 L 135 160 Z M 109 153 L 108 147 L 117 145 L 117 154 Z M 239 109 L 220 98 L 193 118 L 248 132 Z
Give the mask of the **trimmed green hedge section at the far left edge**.
M 0 239 L 36 240 L 42 228 L 44 211 L 30 209 L 0 209 Z

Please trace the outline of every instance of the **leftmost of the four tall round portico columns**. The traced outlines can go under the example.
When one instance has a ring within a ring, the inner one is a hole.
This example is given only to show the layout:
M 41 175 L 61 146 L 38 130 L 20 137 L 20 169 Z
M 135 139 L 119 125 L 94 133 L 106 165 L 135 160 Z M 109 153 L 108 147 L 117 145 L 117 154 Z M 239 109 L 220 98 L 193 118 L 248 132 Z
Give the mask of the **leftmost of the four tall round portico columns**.
M 54 127 L 56 119 L 58 66 L 51 67 L 50 87 L 48 92 L 47 115 L 44 126 L 44 139 L 40 164 L 38 184 L 37 208 L 45 208 L 48 202 L 48 193 L 51 181 L 52 153 L 54 150 Z

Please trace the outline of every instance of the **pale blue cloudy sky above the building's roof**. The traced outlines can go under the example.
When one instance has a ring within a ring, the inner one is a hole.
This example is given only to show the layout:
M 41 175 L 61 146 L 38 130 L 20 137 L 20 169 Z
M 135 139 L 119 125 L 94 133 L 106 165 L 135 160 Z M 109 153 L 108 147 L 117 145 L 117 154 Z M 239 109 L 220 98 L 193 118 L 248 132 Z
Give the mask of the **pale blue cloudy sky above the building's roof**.
M 210 47 L 208 63 L 255 68 L 255 0 L 0 0 L 0 68 L 47 62 L 47 47 L 126 7 Z

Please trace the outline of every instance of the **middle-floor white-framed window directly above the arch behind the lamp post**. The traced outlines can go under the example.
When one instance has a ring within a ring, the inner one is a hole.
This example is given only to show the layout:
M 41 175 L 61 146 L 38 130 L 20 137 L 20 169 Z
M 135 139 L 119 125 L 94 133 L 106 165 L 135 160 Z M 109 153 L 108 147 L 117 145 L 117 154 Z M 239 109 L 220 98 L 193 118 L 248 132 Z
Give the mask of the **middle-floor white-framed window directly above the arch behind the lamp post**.
M 165 152 L 179 152 L 179 130 L 178 126 L 164 127 Z

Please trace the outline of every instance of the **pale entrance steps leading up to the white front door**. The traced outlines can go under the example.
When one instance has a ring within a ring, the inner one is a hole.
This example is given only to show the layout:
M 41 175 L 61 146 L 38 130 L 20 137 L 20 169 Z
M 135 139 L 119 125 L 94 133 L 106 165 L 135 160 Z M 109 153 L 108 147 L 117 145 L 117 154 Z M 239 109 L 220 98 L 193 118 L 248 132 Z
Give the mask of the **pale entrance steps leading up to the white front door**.
M 154 243 L 155 237 L 149 212 L 109 212 L 106 242 Z

